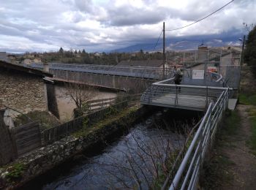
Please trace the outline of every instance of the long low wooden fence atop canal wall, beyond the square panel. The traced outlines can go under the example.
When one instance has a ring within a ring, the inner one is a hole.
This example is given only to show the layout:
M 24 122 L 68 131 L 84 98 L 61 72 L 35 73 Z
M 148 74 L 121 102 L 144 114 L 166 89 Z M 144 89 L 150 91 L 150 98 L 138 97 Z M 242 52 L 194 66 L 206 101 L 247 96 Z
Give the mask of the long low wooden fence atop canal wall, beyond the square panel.
M 55 142 L 56 140 L 60 140 L 65 135 L 81 129 L 85 124 L 87 127 L 89 127 L 91 126 L 91 124 L 110 115 L 113 110 L 118 111 L 124 109 L 124 107 L 127 107 L 127 105 L 127 101 L 113 104 L 110 107 L 103 108 L 101 110 L 98 110 L 97 112 L 90 113 L 89 115 L 83 115 L 75 118 L 72 121 L 62 123 L 59 126 L 54 126 L 50 129 L 46 129 L 42 132 L 43 145 L 48 145 Z

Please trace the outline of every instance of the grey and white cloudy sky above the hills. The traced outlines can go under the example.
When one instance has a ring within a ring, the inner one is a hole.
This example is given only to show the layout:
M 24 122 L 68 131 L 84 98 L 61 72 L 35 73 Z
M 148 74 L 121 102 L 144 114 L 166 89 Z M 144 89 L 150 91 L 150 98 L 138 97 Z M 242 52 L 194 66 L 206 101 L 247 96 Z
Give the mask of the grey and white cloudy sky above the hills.
M 108 51 L 155 41 L 165 28 L 194 22 L 230 0 L 0 0 L 0 51 Z M 167 38 L 244 31 L 256 23 L 255 0 L 235 0 Z M 154 43 L 154 42 L 153 42 Z

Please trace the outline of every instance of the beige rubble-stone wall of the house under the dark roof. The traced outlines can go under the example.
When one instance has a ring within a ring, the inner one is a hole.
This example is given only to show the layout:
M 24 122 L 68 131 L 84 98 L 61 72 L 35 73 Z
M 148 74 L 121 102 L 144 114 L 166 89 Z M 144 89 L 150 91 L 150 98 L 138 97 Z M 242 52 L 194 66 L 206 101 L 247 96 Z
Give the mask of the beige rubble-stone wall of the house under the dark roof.
M 40 76 L 3 68 L 0 70 L 0 104 L 22 113 L 47 110 L 45 90 Z

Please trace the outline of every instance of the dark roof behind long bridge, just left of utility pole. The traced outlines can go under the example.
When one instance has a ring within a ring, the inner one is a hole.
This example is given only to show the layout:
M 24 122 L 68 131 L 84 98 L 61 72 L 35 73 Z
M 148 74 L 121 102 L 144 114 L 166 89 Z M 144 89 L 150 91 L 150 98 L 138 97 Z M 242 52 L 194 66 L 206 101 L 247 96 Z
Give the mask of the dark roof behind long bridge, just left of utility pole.
M 162 60 L 146 60 L 146 61 L 120 61 L 116 66 L 150 66 L 159 67 L 163 63 Z

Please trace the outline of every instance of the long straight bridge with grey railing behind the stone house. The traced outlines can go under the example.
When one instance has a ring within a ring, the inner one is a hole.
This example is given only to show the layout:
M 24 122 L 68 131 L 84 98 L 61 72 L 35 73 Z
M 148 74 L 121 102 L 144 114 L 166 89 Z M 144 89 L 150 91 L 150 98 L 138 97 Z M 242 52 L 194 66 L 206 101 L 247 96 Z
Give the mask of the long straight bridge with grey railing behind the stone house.
M 43 69 L 43 64 L 31 64 L 33 68 Z M 162 79 L 162 69 L 148 66 L 111 66 L 89 64 L 49 64 L 53 80 L 80 83 L 99 88 L 129 91 L 145 89 L 151 83 Z M 172 69 L 165 69 L 167 76 Z

